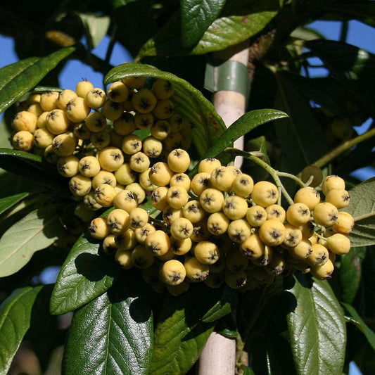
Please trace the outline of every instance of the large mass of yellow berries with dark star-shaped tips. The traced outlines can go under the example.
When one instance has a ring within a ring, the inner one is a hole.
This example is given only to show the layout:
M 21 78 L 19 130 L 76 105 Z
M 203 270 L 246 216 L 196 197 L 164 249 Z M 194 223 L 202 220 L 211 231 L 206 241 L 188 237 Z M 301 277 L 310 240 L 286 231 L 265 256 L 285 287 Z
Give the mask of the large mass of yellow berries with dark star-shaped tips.
M 76 91 L 32 95 L 15 115 L 13 145 L 44 155 L 70 179 L 82 220 L 114 206 L 91 220 L 89 232 L 156 291 L 179 295 L 199 281 L 246 291 L 293 269 L 329 277 L 335 256 L 350 250 L 354 226 L 338 211 L 349 203 L 343 179 L 326 177 L 324 202 L 313 187 L 299 189 L 287 210 L 277 186 L 254 184 L 215 158 L 201 160 L 190 179 L 189 122 L 174 113 L 172 84 L 145 83 L 129 77 L 106 93 L 84 80 Z M 142 208 L 146 196 L 160 220 Z

